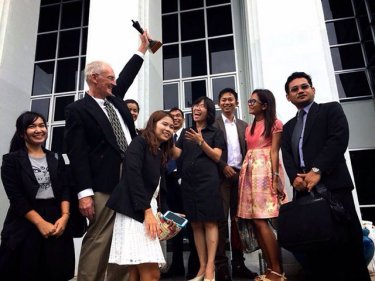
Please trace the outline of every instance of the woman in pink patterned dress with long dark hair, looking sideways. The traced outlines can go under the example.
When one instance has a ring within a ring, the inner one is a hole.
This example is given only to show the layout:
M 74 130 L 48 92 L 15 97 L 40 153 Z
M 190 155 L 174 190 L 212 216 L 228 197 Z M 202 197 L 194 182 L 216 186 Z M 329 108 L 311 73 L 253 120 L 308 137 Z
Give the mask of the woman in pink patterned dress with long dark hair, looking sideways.
M 268 267 L 265 275 L 255 280 L 286 280 L 280 248 L 269 223 L 278 217 L 280 204 L 286 200 L 279 160 L 283 124 L 276 118 L 276 102 L 271 91 L 254 90 L 248 105 L 254 121 L 245 131 L 248 151 L 239 176 L 237 216 L 251 220 Z

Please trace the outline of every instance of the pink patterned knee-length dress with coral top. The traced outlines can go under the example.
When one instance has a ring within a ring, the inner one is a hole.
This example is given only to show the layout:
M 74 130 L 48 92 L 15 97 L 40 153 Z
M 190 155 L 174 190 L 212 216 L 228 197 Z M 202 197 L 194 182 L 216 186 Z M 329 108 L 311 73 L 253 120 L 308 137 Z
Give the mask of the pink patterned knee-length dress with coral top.
M 272 136 L 269 138 L 262 136 L 264 120 L 257 122 L 253 135 L 250 135 L 250 128 L 251 126 L 248 126 L 245 131 L 248 151 L 240 171 L 237 216 L 244 219 L 274 218 L 279 215 L 282 202 L 276 194 L 272 193 Z M 271 134 L 280 133 L 282 130 L 283 124 L 277 119 Z M 285 177 L 281 161 L 279 161 L 279 173 L 280 180 L 277 188 L 285 192 Z

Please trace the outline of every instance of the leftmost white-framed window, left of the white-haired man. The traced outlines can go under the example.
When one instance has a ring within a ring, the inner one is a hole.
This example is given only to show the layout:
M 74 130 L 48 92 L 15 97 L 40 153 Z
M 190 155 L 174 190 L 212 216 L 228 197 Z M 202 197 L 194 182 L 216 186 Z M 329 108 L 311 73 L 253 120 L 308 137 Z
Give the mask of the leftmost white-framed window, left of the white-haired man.
M 31 110 L 48 121 L 47 146 L 62 150 L 64 109 L 82 96 L 89 0 L 41 0 Z

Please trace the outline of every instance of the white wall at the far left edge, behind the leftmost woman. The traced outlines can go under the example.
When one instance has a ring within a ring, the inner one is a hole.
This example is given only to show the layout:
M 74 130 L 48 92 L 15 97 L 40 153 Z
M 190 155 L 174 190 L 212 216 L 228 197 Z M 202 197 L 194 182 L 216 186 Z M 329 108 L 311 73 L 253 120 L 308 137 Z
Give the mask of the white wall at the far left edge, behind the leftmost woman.
M 0 0 L 0 155 L 9 150 L 16 118 L 30 109 L 40 0 Z M 0 225 L 9 203 L 0 186 Z

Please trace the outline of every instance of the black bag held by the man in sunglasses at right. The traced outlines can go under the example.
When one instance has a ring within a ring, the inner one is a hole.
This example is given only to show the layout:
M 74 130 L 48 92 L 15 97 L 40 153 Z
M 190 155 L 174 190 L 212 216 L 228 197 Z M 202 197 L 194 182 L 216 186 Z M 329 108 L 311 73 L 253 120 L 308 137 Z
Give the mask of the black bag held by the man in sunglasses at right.
M 306 196 L 280 206 L 278 242 L 291 252 L 327 249 L 344 241 L 347 221 L 341 203 L 318 184 Z

